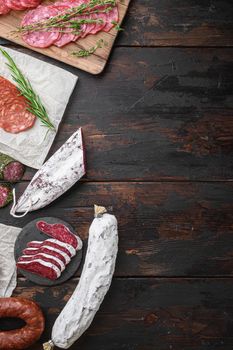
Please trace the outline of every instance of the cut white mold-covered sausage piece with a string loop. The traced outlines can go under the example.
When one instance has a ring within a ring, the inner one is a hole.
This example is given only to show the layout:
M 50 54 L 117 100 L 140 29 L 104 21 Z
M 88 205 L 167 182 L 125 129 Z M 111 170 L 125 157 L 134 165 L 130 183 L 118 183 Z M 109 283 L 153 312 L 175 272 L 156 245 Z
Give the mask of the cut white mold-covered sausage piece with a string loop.
M 85 174 L 81 128 L 38 170 L 11 208 L 11 215 L 45 207 L 60 197 Z

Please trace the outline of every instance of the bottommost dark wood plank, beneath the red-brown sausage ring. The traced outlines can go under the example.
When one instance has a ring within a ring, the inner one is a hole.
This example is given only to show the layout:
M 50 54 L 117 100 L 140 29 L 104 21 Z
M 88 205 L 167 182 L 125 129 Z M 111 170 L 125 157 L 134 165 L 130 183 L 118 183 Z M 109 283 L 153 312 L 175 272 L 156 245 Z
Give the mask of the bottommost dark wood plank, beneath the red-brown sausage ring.
M 33 298 L 45 312 L 41 342 L 76 284 L 35 288 L 19 281 L 15 295 Z M 115 279 L 93 324 L 70 349 L 232 350 L 232 305 L 232 279 Z

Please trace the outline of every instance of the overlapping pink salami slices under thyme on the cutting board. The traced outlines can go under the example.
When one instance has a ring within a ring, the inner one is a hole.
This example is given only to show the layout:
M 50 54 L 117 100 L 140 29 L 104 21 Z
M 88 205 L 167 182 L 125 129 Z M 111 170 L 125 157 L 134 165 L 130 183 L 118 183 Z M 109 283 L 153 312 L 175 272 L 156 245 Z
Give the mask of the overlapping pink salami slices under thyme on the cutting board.
M 64 0 L 57 1 L 52 5 L 38 6 L 35 10 L 29 11 L 24 16 L 21 27 L 35 25 L 35 23 L 40 23 L 49 18 L 62 15 L 82 4 L 88 6 L 88 4 L 90 4 L 90 0 Z M 104 12 L 106 10 L 106 6 L 109 6 L 109 11 Z M 95 20 L 95 23 L 82 24 L 78 35 L 75 35 L 74 30 L 68 25 L 62 28 L 62 30 L 59 30 L 59 28 L 54 26 L 49 30 L 37 29 L 28 31 L 23 34 L 23 40 L 28 45 L 33 47 L 46 48 L 51 45 L 62 47 L 72 41 L 77 41 L 79 38 L 85 38 L 89 34 L 97 34 L 100 31 L 109 32 L 119 20 L 117 5 L 112 6 L 110 4 L 105 6 L 95 6 L 91 9 L 91 13 L 88 14 L 89 11 L 90 8 L 87 7 L 82 14 L 72 18 L 72 21 Z

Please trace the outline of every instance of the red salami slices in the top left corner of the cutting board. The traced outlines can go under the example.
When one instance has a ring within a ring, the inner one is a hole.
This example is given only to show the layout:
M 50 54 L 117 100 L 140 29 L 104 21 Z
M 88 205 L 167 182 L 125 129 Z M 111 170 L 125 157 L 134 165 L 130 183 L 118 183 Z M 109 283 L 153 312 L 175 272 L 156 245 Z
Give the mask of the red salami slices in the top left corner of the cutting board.
M 22 11 L 37 7 L 41 0 L 0 0 L 0 15 L 5 15 L 11 10 Z

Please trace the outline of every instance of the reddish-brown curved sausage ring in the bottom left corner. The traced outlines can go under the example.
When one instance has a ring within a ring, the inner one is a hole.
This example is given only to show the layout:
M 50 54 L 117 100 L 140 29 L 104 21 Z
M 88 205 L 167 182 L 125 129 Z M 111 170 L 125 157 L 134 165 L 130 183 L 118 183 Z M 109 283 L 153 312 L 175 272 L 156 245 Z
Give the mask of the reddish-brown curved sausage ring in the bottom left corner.
M 44 331 L 44 316 L 39 306 L 23 298 L 0 298 L 0 318 L 20 318 L 26 325 L 11 331 L 0 331 L 0 349 L 26 349 Z

